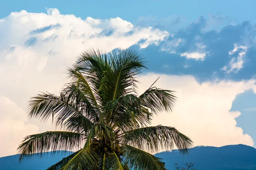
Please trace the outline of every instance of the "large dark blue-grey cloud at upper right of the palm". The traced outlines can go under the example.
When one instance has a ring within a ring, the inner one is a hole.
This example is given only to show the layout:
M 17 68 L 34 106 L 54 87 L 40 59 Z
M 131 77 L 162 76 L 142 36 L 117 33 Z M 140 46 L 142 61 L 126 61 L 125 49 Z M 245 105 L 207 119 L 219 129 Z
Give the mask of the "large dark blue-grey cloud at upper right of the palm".
M 140 51 L 151 62 L 150 71 L 193 75 L 201 82 L 216 78 L 239 81 L 254 77 L 256 75 L 256 26 L 244 21 L 236 25 L 224 26 L 219 31 L 205 31 L 206 26 L 206 18 L 199 17 L 197 21 L 180 29 L 160 45 L 149 45 L 141 49 Z M 180 43 L 177 43 L 178 41 Z M 235 44 L 246 46 L 247 50 L 242 59 L 242 67 L 228 72 L 227 69 L 231 68 L 230 61 L 233 58 L 234 62 L 239 60 L 241 49 L 232 55 L 229 54 L 234 50 Z M 133 47 L 138 48 L 136 45 Z M 205 54 L 205 57 L 196 60 L 185 56 L 186 53 L 192 56 L 193 52 Z M 226 71 L 223 69 L 225 66 L 227 66 Z

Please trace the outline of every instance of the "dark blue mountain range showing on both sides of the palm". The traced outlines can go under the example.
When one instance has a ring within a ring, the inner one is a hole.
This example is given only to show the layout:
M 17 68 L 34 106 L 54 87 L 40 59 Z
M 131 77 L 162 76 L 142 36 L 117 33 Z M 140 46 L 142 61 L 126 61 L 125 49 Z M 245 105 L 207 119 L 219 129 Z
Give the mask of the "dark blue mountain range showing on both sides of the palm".
M 60 151 L 57 156 L 52 152 L 45 153 L 42 158 L 32 158 L 18 162 L 19 155 L 0 158 L 0 170 L 45 170 L 72 152 Z M 243 144 L 224 147 L 194 147 L 189 156 L 183 156 L 177 150 L 157 153 L 166 163 L 167 170 L 175 170 L 175 163 L 195 163 L 198 170 L 256 170 L 256 149 Z

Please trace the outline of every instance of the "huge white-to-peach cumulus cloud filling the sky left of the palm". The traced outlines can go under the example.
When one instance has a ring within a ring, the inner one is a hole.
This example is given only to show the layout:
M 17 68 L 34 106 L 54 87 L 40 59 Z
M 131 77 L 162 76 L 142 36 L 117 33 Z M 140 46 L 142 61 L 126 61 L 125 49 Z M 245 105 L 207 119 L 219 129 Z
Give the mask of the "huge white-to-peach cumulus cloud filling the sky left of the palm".
M 134 44 L 145 48 L 169 36 L 119 17 L 83 20 L 55 8 L 47 9 L 47 14 L 12 12 L 0 19 L 0 32 L 0 129 L 4 130 L 0 156 L 15 154 L 26 135 L 52 130 L 51 122 L 26 123 L 27 101 L 39 91 L 58 94 L 67 67 L 81 51 L 98 47 L 108 52 Z

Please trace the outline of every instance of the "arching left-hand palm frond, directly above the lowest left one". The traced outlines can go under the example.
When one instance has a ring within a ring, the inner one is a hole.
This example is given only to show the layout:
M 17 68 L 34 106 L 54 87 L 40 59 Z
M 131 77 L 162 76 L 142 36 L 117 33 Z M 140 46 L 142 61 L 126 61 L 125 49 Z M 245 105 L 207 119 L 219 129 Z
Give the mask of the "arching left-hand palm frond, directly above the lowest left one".
M 53 94 L 42 93 L 33 97 L 32 100 L 29 101 L 29 117 L 38 117 L 45 122 L 50 117 L 52 117 L 53 121 L 55 116 L 56 127 L 67 127 L 67 130 L 71 131 L 75 131 L 76 129 L 76 132 L 79 133 L 88 131 L 95 121 L 94 108 L 90 106 L 90 103 L 88 104 L 87 102 L 84 102 L 84 99 L 82 101 L 82 105 L 79 105 L 77 103 L 79 102 L 79 99 L 73 99 L 76 95 L 66 94 L 66 92 L 61 93 L 58 97 Z M 84 112 L 86 114 L 84 114 Z M 93 113 L 88 114 L 90 112 Z M 73 124 L 74 118 L 80 119 Z M 91 122 L 91 120 L 93 122 Z M 78 127 L 80 131 L 77 131 Z

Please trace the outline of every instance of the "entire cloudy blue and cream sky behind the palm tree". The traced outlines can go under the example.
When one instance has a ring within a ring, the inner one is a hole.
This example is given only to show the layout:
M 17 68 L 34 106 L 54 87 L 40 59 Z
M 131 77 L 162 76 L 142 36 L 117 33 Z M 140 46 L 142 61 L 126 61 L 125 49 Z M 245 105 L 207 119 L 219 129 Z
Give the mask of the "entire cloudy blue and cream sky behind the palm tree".
M 176 127 L 194 146 L 256 147 L 256 17 L 253 0 L 32 1 L 0 6 L 0 157 L 26 135 L 52 130 L 28 119 L 39 91 L 58 94 L 65 71 L 87 48 L 137 49 L 149 61 L 142 93 L 177 91 Z

